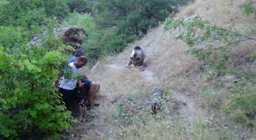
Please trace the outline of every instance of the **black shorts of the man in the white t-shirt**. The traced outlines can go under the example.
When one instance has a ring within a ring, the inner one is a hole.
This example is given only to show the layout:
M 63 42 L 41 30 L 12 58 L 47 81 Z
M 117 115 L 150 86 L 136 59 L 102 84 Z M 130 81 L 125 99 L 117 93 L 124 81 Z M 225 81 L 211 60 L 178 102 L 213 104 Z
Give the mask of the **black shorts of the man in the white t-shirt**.
M 77 87 L 73 90 L 62 89 L 59 87 L 59 92 L 62 93 L 62 99 L 67 107 L 73 105 L 74 100 L 78 101 L 81 106 L 86 105 L 86 97 L 78 91 Z

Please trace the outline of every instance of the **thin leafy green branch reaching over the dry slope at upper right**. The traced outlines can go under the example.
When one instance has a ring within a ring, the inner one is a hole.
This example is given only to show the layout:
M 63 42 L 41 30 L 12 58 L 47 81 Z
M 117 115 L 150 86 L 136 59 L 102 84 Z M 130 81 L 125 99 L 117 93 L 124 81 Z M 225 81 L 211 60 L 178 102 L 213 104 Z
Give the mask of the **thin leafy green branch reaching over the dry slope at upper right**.
M 235 46 L 242 41 L 254 40 L 239 31 L 229 31 L 203 20 L 199 15 L 192 18 L 168 18 L 164 29 L 174 31 L 179 29 L 179 34 L 175 35 L 176 40 L 180 39 L 187 43 L 189 49 L 187 53 L 196 55 L 200 59 L 206 59 L 212 50 L 221 49 L 224 54 L 226 49 Z M 214 47 L 214 44 L 221 44 Z

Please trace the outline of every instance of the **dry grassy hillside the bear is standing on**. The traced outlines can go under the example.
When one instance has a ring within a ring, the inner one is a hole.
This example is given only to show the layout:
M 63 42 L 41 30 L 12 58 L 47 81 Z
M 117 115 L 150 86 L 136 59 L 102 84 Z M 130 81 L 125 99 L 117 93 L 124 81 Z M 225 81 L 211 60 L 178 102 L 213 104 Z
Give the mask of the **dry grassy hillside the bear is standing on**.
M 226 30 L 245 32 L 255 26 L 255 21 L 241 12 L 239 6 L 244 2 L 246 0 L 197 0 L 176 17 L 198 14 Z M 256 4 L 255 0 L 251 2 Z M 64 137 L 84 140 L 256 139 L 255 112 L 253 117 L 247 116 L 246 121 L 241 119 L 241 110 L 225 112 L 228 97 L 237 93 L 236 83 L 243 76 L 225 72 L 212 78 L 213 70 L 206 68 L 215 62 L 218 54 L 212 54 L 206 61 L 185 55 L 188 46 L 173 39 L 178 33 L 164 31 L 161 25 L 130 44 L 123 53 L 101 59 L 89 74 L 101 83 L 98 95 L 101 105 L 86 112 L 87 122 L 76 125 Z M 143 46 L 147 54 L 143 72 L 125 68 L 135 46 Z M 231 48 L 228 68 L 255 74 L 256 63 L 248 59 L 255 51 L 255 41 Z M 152 115 L 147 102 L 154 87 L 162 88 L 164 100 L 162 109 Z M 245 88 L 255 91 L 253 84 Z

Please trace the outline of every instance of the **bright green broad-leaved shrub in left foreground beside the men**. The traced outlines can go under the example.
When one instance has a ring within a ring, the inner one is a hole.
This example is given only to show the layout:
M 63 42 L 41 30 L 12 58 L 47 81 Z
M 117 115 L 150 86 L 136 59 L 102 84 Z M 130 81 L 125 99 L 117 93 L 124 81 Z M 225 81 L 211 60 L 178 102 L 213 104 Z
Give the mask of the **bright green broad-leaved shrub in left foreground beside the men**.
M 9 30 L 20 35 L 15 28 Z M 56 48 L 65 46 L 26 46 L 24 41 L 19 48 L 10 48 L 13 42 L 6 41 L 0 45 L 0 135 L 8 139 L 57 137 L 76 122 L 52 88 L 56 72 L 63 71 L 67 61 L 59 51 L 63 49 Z

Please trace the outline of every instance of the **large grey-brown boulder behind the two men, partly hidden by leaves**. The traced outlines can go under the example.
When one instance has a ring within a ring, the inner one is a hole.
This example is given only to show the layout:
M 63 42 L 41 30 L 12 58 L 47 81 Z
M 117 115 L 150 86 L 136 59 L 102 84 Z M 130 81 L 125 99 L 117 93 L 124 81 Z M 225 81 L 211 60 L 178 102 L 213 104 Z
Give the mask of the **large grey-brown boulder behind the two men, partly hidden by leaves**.
M 70 45 L 77 49 L 80 48 L 81 44 L 83 43 L 84 40 L 82 35 L 86 35 L 86 31 L 79 26 L 65 26 L 64 28 L 54 31 L 54 35 L 59 36 L 64 44 Z M 47 32 L 44 32 L 43 36 L 47 36 Z M 28 43 L 28 45 L 34 44 L 39 46 L 41 41 L 41 38 L 35 37 Z

